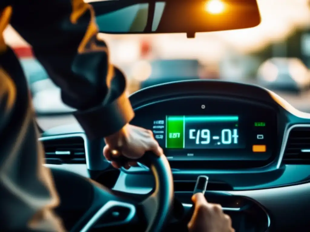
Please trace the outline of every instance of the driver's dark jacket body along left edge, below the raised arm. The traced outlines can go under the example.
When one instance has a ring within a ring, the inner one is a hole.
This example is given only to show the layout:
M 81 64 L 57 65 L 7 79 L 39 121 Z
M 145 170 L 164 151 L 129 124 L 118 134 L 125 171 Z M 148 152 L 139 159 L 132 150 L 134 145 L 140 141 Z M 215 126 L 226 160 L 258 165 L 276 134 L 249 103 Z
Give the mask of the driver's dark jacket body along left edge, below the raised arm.
M 3 22 L 1 17 L 0 22 Z M 51 171 L 42 165 L 44 150 L 38 142 L 27 81 L 13 51 L 3 48 L 0 51 L 0 231 L 62 232 L 65 229 L 53 213 L 60 199 Z

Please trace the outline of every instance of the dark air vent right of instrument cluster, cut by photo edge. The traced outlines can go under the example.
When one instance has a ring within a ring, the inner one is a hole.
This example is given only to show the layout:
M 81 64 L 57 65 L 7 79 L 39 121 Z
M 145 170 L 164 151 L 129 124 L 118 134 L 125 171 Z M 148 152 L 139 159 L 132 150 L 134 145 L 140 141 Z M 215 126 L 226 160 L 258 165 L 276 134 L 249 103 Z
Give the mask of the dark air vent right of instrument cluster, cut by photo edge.
M 294 127 L 290 131 L 282 162 L 310 164 L 310 127 Z

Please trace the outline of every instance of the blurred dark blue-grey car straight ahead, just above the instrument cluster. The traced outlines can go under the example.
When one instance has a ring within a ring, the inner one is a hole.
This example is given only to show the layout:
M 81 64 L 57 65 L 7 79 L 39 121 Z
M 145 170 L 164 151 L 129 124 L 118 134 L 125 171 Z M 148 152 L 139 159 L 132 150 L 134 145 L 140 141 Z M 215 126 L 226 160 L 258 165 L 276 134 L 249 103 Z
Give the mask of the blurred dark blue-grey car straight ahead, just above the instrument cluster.
M 201 65 L 195 59 L 153 60 L 148 78 L 141 88 L 178 80 L 199 79 Z

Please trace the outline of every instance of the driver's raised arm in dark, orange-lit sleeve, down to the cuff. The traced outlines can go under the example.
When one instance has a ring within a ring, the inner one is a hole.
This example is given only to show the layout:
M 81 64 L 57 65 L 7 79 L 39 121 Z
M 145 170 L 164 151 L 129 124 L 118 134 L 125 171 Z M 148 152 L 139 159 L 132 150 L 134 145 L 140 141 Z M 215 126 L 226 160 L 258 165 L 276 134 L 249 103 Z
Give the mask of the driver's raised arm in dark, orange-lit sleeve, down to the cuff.
M 126 79 L 97 38 L 92 7 L 82 0 L 24 0 L 13 5 L 12 26 L 32 46 L 65 104 L 90 138 L 106 137 L 134 117 Z

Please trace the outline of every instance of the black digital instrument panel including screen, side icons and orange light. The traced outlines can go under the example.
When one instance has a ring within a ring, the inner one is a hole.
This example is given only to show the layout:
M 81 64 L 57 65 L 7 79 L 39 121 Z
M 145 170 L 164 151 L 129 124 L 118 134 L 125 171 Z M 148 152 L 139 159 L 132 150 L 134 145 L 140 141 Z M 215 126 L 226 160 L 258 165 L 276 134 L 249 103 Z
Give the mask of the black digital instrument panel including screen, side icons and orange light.
M 170 161 L 261 161 L 275 152 L 277 113 L 239 98 L 166 99 L 135 111 L 135 125 L 153 131 Z

